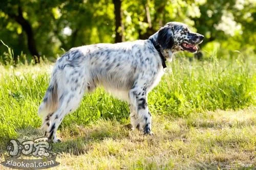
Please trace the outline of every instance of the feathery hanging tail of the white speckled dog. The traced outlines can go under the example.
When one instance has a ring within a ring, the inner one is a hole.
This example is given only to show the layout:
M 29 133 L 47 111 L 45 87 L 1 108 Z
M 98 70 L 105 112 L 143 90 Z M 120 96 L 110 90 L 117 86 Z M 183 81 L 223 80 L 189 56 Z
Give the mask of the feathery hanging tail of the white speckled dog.
M 45 117 L 57 110 L 58 106 L 58 84 L 56 78 L 53 76 L 49 87 L 46 91 L 44 99 L 39 106 L 38 116 L 42 118 L 44 122 Z

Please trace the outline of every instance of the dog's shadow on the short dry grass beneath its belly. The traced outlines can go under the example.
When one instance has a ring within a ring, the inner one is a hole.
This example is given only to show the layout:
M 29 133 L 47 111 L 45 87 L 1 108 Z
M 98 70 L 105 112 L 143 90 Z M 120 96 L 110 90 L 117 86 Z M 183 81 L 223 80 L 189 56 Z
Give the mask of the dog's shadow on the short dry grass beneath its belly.
M 117 124 L 117 123 L 112 123 Z M 53 152 L 57 154 L 69 153 L 80 155 L 88 153 L 93 149 L 95 143 L 101 143 L 105 139 L 125 139 L 129 138 L 131 129 L 129 126 L 99 126 L 99 127 L 82 127 L 75 126 L 63 129 L 61 132 L 60 143 L 53 143 Z M 67 134 L 69 136 L 66 136 Z

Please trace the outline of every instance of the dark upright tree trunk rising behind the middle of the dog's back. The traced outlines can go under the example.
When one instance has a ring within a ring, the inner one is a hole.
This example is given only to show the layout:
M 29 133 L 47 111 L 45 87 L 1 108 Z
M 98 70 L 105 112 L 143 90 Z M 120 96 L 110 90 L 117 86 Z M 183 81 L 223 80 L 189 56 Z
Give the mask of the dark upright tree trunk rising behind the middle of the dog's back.
M 115 21 L 116 21 L 116 37 L 115 43 L 124 41 L 123 37 L 123 24 L 122 24 L 122 11 L 121 11 L 121 0 L 113 0 L 114 8 L 115 8 Z M 121 30 L 119 29 L 121 28 Z

